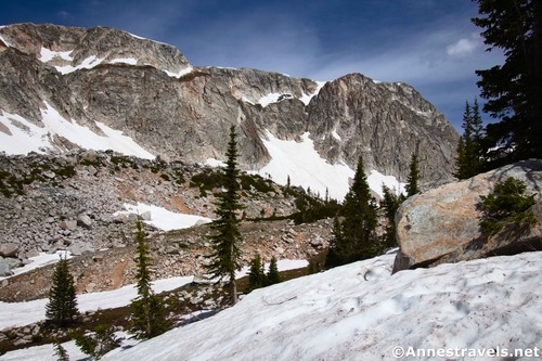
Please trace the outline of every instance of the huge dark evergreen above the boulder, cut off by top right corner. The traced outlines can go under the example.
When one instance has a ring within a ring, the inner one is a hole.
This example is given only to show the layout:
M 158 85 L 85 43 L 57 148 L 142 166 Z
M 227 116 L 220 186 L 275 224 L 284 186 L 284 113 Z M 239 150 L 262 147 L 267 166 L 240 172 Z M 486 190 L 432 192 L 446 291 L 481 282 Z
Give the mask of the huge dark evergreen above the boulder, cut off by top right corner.
M 476 70 L 483 111 L 500 119 L 486 127 L 485 151 L 496 167 L 542 158 L 542 2 L 475 0 L 488 51 L 504 52 L 503 65 Z

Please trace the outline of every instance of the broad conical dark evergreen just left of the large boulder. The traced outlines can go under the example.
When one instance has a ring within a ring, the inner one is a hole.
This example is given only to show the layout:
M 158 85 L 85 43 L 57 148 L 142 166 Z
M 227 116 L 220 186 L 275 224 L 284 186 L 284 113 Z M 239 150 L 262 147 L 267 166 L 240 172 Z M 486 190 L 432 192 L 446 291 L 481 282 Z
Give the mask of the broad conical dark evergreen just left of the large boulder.
M 374 257 L 380 249 L 376 236 L 376 201 L 371 195 L 361 156 L 352 185 L 345 196 L 343 212 L 344 220 L 334 221 L 334 238 L 326 257 L 327 267 Z

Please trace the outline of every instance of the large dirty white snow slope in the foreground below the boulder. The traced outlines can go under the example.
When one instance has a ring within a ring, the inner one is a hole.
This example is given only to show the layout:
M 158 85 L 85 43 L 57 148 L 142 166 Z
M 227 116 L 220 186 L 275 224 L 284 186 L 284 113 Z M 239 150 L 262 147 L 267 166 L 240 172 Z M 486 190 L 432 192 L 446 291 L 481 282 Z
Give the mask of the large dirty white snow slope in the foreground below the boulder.
M 539 360 L 541 256 L 390 275 L 395 255 L 386 255 L 257 289 L 104 360 Z M 54 360 L 52 346 L 0 357 L 22 359 Z

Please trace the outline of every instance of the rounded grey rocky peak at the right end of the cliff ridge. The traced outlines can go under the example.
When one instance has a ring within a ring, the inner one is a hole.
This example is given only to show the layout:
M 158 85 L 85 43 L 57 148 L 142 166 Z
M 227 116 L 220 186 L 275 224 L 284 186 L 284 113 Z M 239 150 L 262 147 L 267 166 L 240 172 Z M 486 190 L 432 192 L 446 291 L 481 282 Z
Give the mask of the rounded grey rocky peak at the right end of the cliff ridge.
M 332 162 L 353 165 L 362 155 L 373 168 L 405 181 L 411 155 L 417 153 L 425 182 L 450 180 L 457 134 L 408 85 L 350 74 L 324 86 L 308 111 L 307 129 L 318 134 L 319 153 Z

